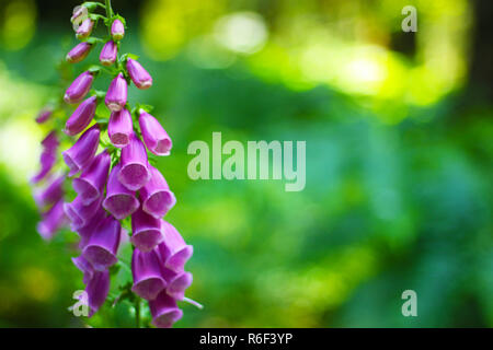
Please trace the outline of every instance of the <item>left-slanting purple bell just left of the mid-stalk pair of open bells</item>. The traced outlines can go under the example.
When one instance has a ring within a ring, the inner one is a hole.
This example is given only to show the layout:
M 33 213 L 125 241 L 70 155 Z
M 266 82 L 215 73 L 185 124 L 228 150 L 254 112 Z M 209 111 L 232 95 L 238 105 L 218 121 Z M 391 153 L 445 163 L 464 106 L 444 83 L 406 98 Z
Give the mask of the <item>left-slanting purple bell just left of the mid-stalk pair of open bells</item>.
M 73 189 L 84 206 L 91 205 L 103 195 L 111 162 L 110 154 L 104 150 L 82 171 L 80 177 L 72 180 Z

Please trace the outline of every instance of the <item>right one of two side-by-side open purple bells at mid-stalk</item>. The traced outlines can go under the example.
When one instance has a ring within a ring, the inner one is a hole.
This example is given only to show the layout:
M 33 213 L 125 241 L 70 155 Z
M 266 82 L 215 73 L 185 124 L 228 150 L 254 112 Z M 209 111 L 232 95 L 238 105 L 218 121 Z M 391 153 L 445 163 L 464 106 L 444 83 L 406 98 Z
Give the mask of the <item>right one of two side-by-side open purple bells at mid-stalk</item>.
M 160 219 L 176 203 L 174 194 L 170 190 L 162 174 L 152 165 L 149 165 L 150 180 L 140 189 L 142 210 L 148 214 Z

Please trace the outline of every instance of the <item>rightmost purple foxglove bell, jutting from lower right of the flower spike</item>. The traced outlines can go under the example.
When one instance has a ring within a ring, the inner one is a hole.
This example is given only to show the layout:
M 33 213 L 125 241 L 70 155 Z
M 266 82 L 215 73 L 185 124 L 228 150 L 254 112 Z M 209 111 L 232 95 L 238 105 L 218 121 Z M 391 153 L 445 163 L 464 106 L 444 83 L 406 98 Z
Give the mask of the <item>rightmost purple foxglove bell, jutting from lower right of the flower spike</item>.
M 161 260 L 170 270 L 181 272 L 194 253 L 193 246 L 187 245 L 176 229 L 164 220 L 161 220 L 161 230 L 164 235 L 164 242 L 158 246 Z

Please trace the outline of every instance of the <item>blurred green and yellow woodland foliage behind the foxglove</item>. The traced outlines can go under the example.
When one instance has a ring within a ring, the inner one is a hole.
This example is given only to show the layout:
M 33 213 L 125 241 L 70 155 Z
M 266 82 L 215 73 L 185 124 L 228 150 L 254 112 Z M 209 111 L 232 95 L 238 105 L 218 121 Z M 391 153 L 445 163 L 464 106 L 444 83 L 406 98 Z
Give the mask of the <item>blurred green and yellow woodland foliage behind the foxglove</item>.
M 415 34 L 400 30 L 410 3 L 419 9 Z M 0 7 L 9 18 L 0 32 L 4 327 L 87 324 L 67 310 L 82 288 L 69 259 L 76 252 L 64 243 L 74 236 L 42 241 L 26 183 L 46 131 L 33 118 L 51 97 L 57 60 L 76 43 L 70 13 L 46 23 L 36 15 L 46 7 Z M 183 304 L 177 327 L 493 326 L 493 108 L 465 102 L 473 89 L 465 85 L 469 2 L 131 7 L 122 11 L 123 50 L 140 55 L 154 85 L 129 95 L 154 105 L 173 138 L 171 156 L 158 161 L 177 198 L 168 219 L 194 245 L 188 296 L 205 305 Z M 9 11 L 24 24 L 11 28 Z M 187 145 L 210 142 L 213 131 L 223 142 L 306 140 L 306 189 L 191 180 Z M 417 292 L 419 317 L 401 314 L 408 289 Z M 133 313 L 127 302 L 112 308 L 108 301 L 89 324 L 131 327 Z

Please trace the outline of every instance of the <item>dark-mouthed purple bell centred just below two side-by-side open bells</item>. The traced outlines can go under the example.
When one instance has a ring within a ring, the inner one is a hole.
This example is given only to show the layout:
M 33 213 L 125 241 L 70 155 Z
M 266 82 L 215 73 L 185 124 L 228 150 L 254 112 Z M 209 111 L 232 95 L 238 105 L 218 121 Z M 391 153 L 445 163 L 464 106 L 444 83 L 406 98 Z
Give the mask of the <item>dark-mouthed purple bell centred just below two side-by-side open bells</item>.
M 141 252 L 149 252 L 164 240 L 161 222 L 138 209 L 131 214 L 130 242 Z

